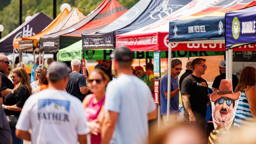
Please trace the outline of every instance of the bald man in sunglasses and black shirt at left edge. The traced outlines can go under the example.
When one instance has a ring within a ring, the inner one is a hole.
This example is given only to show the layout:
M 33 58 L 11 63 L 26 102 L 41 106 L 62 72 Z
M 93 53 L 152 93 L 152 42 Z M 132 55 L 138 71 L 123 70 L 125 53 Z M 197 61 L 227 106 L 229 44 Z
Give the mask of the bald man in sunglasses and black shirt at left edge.
M 5 75 L 5 73 L 8 73 L 8 67 L 10 66 L 10 62 L 7 56 L 0 55 L 0 75 L 2 78 L 2 86 L 0 88 L 1 94 L 3 97 L 5 97 L 9 92 L 14 89 L 14 84 L 8 77 Z M 3 103 L 3 98 L 0 98 L 1 102 Z

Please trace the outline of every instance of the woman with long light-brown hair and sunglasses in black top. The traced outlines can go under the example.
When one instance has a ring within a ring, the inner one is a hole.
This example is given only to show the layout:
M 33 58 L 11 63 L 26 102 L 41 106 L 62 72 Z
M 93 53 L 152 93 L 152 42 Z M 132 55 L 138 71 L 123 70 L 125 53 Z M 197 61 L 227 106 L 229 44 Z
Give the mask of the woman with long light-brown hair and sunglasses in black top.
M 5 114 L 8 118 L 12 119 L 9 121 L 11 134 L 13 138 L 13 143 L 23 143 L 23 140 L 15 136 L 15 119 L 19 119 L 19 114 L 22 110 L 22 107 L 28 97 L 32 94 L 32 88 L 30 86 L 29 75 L 26 70 L 21 67 L 13 69 L 11 76 L 13 84 L 15 85 L 14 89 L 6 95 L 4 98 L 5 105 L 2 105 L 2 108 L 5 111 Z M 17 121 L 16 121 L 17 122 Z

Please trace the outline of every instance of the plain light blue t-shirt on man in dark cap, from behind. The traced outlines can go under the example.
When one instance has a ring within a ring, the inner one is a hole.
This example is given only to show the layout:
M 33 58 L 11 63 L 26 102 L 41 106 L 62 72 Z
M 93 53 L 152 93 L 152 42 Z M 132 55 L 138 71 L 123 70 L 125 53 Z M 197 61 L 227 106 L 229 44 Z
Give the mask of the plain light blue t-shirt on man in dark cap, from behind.
M 118 113 L 118 118 L 110 144 L 147 141 L 147 114 L 155 109 L 150 89 L 136 76 L 120 75 L 111 81 L 106 90 L 105 110 Z

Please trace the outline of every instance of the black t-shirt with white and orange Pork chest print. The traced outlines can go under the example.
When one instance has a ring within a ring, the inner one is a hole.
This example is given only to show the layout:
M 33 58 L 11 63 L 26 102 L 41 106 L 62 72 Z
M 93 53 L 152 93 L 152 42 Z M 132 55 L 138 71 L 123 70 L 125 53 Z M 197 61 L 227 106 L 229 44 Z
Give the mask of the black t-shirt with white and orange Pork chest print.
M 182 94 L 189 94 L 189 101 L 192 112 L 196 119 L 202 119 L 206 116 L 207 100 L 208 100 L 208 84 L 203 78 L 194 75 L 188 75 L 182 81 Z M 184 118 L 188 119 L 189 115 L 184 108 Z

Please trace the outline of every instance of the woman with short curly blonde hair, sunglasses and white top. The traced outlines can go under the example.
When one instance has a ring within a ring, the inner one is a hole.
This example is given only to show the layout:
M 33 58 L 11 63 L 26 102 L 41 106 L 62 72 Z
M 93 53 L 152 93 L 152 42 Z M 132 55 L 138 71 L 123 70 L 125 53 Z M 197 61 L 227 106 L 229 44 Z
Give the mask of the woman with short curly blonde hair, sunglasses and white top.
M 47 68 L 46 68 L 44 65 L 39 65 L 39 66 L 36 67 L 36 77 L 37 77 L 38 80 L 33 81 L 33 82 L 31 83 L 32 93 L 34 93 L 34 91 L 35 91 L 38 87 L 44 85 L 44 83 L 43 83 L 44 81 L 42 81 L 43 78 L 41 78 L 41 74 L 42 74 L 43 71 L 45 71 L 45 70 L 47 71 Z

